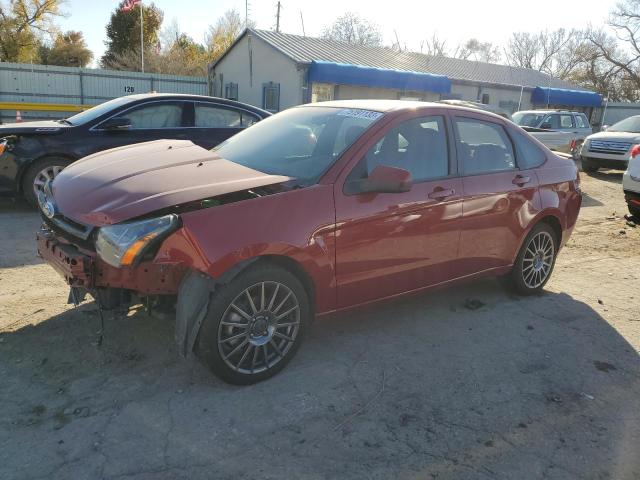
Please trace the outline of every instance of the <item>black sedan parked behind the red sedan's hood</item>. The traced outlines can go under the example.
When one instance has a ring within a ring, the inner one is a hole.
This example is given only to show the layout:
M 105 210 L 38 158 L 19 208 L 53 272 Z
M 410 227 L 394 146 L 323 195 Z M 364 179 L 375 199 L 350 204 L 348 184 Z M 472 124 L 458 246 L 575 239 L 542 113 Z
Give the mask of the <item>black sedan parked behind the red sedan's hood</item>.
M 64 120 L 0 126 L 0 195 L 36 204 L 47 180 L 101 150 L 164 138 L 212 148 L 269 112 L 197 95 L 150 93 L 102 103 Z

